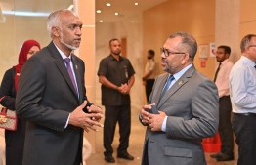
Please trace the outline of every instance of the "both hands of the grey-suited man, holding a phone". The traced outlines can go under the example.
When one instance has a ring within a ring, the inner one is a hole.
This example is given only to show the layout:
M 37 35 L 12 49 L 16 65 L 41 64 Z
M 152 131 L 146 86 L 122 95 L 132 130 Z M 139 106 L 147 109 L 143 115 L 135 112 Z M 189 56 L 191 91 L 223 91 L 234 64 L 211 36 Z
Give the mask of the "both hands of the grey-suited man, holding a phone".
M 153 104 L 143 105 L 141 109 L 142 122 L 148 124 L 151 131 L 162 131 L 162 123 L 166 114 L 162 111 L 158 111 L 159 114 L 149 113 L 149 109 Z

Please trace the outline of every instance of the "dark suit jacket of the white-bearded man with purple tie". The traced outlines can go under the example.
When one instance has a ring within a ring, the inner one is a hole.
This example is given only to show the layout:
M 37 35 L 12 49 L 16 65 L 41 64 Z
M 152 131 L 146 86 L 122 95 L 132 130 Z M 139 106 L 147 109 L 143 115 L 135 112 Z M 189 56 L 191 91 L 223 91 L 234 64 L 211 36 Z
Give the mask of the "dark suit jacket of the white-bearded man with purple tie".
M 21 70 L 17 115 L 27 120 L 24 165 L 73 165 L 82 158 L 81 128 L 68 125 L 69 113 L 86 98 L 84 62 L 72 55 L 79 99 L 64 60 L 51 42 L 32 56 Z

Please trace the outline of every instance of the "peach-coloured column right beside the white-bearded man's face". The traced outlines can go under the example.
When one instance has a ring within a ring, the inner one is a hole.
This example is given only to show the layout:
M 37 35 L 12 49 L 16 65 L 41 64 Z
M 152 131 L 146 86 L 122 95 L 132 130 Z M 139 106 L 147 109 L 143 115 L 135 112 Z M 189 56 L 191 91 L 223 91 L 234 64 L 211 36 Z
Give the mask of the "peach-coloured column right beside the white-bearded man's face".
M 82 42 L 76 55 L 85 62 L 86 95 L 91 103 L 95 103 L 95 0 L 73 0 L 73 2 L 74 11 L 83 22 Z M 94 131 L 84 134 L 92 144 L 93 153 L 95 153 L 96 134 Z

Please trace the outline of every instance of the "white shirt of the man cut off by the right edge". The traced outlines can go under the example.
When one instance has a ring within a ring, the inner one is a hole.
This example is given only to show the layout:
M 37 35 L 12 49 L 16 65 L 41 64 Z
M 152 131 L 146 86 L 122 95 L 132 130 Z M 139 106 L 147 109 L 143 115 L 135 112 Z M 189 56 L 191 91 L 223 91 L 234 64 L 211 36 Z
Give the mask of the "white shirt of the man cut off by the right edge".
M 255 62 L 241 56 L 232 68 L 229 82 L 234 113 L 256 113 Z

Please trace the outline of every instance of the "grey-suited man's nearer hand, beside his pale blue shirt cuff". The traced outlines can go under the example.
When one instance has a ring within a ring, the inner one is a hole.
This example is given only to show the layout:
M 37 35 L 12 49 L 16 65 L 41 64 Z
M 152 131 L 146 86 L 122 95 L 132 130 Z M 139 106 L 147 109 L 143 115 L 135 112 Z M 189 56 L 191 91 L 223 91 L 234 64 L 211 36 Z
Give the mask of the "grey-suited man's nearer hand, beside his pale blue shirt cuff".
M 162 123 L 166 114 L 162 111 L 158 111 L 159 114 L 149 113 L 149 128 L 151 131 L 162 131 Z

